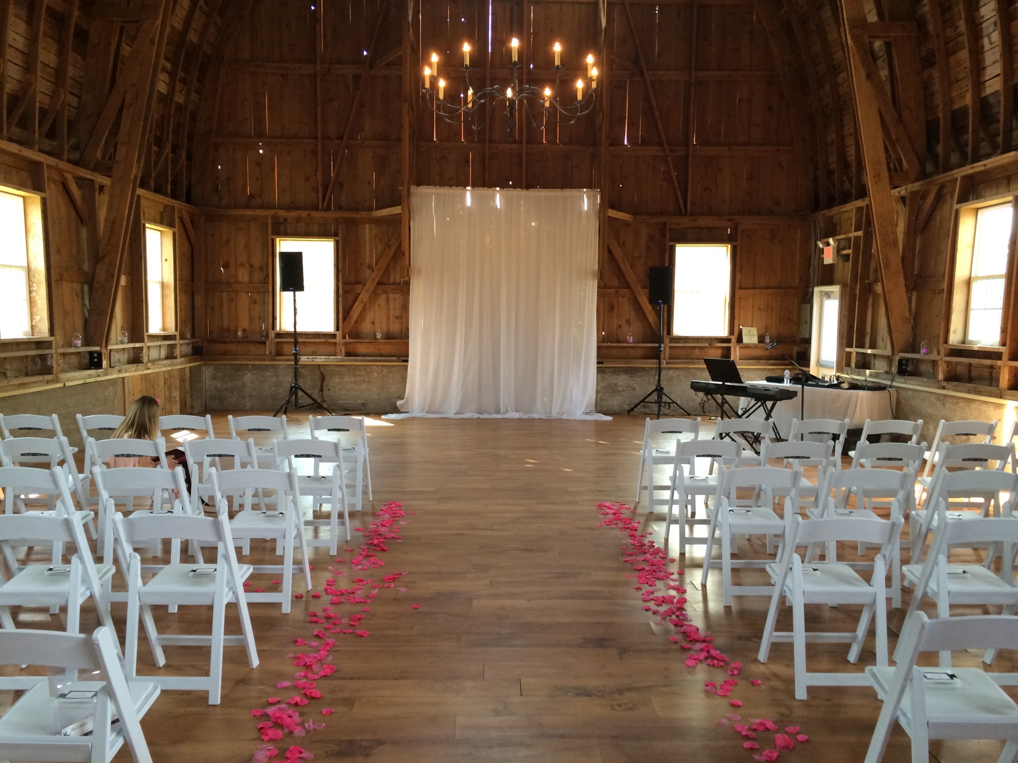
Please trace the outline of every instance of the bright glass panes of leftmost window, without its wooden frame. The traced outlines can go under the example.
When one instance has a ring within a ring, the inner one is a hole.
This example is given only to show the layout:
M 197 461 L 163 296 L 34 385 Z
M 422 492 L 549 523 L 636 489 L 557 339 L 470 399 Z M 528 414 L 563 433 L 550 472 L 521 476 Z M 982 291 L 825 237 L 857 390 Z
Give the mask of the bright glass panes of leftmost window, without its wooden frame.
M 32 334 L 24 198 L 0 191 L 0 338 Z

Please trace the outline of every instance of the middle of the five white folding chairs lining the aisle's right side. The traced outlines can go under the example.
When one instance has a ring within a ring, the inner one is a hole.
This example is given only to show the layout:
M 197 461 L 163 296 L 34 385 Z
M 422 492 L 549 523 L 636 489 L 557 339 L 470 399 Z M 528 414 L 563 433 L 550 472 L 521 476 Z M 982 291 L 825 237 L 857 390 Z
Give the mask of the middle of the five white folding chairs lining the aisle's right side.
M 771 586 L 733 585 L 732 568 L 766 568 L 771 560 L 732 560 L 733 538 L 736 535 L 766 535 L 783 537 L 792 521 L 799 502 L 799 484 L 802 472 L 798 469 L 778 469 L 767 466 L 726 469 L 722 473 L 711 512 L 706 548 L 703 551 L 703 570 L 700 584 L 705 586 L 711 568 L 722 570 L 722 591 L 725 606 L 731 606 L 733 595 L 770 596 Z M 752 490 L 752 505 L 736 505 L 739 489 Z M 775 502 L 784 501 L 783 516 L 774 511 Z M 720 535 L 721 560 L 713 559 L 716 535 Z M 780 551 L 779 551 L 780 553 Z

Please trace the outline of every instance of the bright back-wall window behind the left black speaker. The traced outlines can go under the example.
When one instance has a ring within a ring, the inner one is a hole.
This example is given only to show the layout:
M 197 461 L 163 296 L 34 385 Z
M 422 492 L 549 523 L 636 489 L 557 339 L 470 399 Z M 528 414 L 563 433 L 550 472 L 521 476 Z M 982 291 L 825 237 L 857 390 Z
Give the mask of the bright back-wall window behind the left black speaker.
M 276 239 L 276 329 L 293 331 L 293 292 L 279 290 L 279 252 L 299 251 L 304 290 L 296 292 L 297 329 L 336 331 L 336 242 L 331 238 Z

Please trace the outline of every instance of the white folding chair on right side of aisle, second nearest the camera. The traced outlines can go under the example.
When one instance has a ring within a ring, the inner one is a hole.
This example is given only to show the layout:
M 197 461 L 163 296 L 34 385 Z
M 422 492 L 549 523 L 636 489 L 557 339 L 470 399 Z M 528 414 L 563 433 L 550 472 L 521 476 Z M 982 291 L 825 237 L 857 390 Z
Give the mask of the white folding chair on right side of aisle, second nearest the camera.
M 785 538 L 784 552 L 781 559 L 768 566 L 768 572 L 774 578 L 774 593 L 771 596 L 771 608 L 768 610 L 767 623 L 764 626 L 764 637 L 760 640 L 757 659 L 767 662 L 773 642 L 789 642 L 793 644 L 795 664 L 795 698 L 806 699 L 807 688 L 810 686 L 868 686 L 869 681 L 863 673 L 852 672 L 809 672 L 806 669 L 806 643 L 822 642 L 848 643 L 848 661 L 855 663 L 859 658 L 869 624 L 876 614 L 876 626 L 873 637 L 876 642 L 876 663 L 888 664 L 888 624 L 887 624 L 887 593 L 884 578 L 887 574 L 887 559 L 898 542 L 901 533 L 901 519 L 895 518 L 887 522 L 881 519 L 851 519 L 839 517 L 836 519 L 811 519 L 806 522 L 796 515 L 792 518 L 792 527 Z M 839 563 L 836 555 L 831 555 L 826 562 L 803 564 L 795 552 L 796 545 L 828 543 L 836 545 L 839 541 L 866 543 L 881 546 L 881 551 L 873 563 L 873 573 L 867 583 L 849 565 Z M 782 596 L 787 597 L 792 606 L 792 631 L 776 631 L 778 607 Z M 806 630 L 805 605 L 827 604 L 861 604 L 862 614 L 854 633 L 815 632 Z

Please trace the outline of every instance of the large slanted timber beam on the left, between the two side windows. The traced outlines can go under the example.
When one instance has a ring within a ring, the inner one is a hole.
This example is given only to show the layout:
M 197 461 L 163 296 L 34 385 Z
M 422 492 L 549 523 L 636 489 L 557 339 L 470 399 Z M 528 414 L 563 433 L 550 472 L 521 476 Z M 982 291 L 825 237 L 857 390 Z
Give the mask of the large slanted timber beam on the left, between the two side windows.
M 84 326 L 86 343 L 93 347 L 109 345 L 117 283 L 123 270 L 124 251 L 129 239 L 132 213 L 137 201 L 139 161 L 155 100 L 160 53 L 170 25 L 172 2 L 162 0 L 162 3 L 163 10 L 160 17 L 142 24 L 131 51 L 128 68 L 134 79 L 129 86 L 124 87 L 124 113 L 120 133 L 117 135 L 117 151 L 110 178 L 106 219 L 103 223 L 99 255 L 92 281 L 89 316 Z M 149 34 L 143 36 L 142 32 L 145 31 Z

